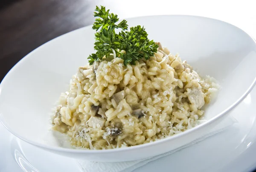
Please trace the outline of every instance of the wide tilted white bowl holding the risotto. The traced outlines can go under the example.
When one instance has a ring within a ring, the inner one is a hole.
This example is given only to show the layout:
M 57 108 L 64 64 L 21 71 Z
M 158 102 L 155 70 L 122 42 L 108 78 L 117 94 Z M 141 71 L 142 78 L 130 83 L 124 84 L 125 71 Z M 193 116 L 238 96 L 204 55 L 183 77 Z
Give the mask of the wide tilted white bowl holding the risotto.
M 203 75 L 221 85 L 207 108 L 208 120 L 160 141 L 109 150 L 67 149 L 49 130 L 49 116 L 71 76 L 93 53 L 91 26 L 72 31 L 35 49 L 9 71 L 0 85 L 0 120 L 18 138 L 51 152 L 90 161 L 130 161 L 183 146 L 209 132 L 250 92 L 256 77 L 256 42 L 241 29 L 195 16 L 150 16 L 128 19 L 144 25 L 150 39 L 177 52 Z M 246 114 L 241 114 L 246 115 Z

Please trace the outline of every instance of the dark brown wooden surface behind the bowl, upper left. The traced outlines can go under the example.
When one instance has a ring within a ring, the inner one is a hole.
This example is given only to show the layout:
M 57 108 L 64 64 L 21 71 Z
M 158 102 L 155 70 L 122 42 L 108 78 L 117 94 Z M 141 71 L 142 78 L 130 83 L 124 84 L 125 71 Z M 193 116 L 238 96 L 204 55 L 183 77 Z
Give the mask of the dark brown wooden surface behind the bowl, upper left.
M 99 3 L 100 0 L 1 0 L 0 82 L 30 51 L 92 24 L 93 10 Z

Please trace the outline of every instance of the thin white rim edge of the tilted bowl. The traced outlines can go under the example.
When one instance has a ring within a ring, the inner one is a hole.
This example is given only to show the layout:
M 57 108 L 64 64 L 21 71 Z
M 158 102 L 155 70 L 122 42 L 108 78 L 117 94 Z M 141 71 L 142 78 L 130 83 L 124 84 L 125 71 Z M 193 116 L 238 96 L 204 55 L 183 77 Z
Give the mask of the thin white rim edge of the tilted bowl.
M 129 19 L 143 19 L 143 18 L 146 18 L 146 17 L 191 17 L 191 18 L 201 18 L 201 19 L 204 19 L 204 20 L 213 20 L 213 21 L 217 21 L 219 23 L 223 23 L 223 24 L 227 24 L 227 25 L 230 25 L 232 27 L 235 27 L 235 28 L 238 28 L 240 31 L 244 32 L 248 37 L 250 37 L 250 39 L 253 40 L 254 44 L 256 45 L 256 40 L 253 39 L 253 37 L 251 37 L 249 34 L 247 34 L 247 32 L 243 31 L 241 28 L 235 26 L 235 25 L 232 25 L 230 23 L 227 23 L 227 22 L 224 22 L 222 20 L 218 20 L 218 19 L 214 19 L 214 18 L 209 18 L 209 17 L 202 17 L 202 16 L 195 16 L 195 15 L 147 15 L 147 16 L 139 16 L 139 17 L 129 17 L 129 18 L 125 18 L 126 20 L 129 20 Z M 31 51 L 29 54 L 27 54 L 26 56 L 24 56 L 22 59 L 20 59 L 19 62 L 17 62 L 11 70 L 9 70 L 9 72 L 6 74 L 6 76 L 3 78 L 2 82 L 0 83 L 0 96 L 1 96 L 1 88 L 2 88 L 2 85 L 4 82 L 6 82 L 6 80 L 8 80 L 8 77 L 10 75 L 10 73 L 14 72 L 15 68 L 17 68 L 19 65 L 22 65 L 22 62 L 24 61 L 24 59 L 26 60 L 26 58 L 28 58 L 29 56 L 31 56 L 35 51 L 37 51 L 39 48 L 41 48 L 42 46 L 45 46 L 46 44 L 52 42 L 52 41 L 55 41 L 55 39 L 58 39 L 60 37 L 64 37 L 66 36 L 67 34 L 70 34 L 70 33 L 73 33 L 75 31 L 80 31 L 80 30 L 84 30 L 84 29 L 87 29 L 87 28 L 91 28 L 92 25 L 87 25 L 85 27 L 82 27 L 82 28 L 78 28 L 76 30 L 73 30 L 73 31 L 70 31 L 70 32 L 67 32 L 66 34 L 62 34 L 58 37 L 55 37 L 54 39 L 51 39 L 49 40 L 48 42 L 45 42 L 44 44 L 40 45 L 38 48 L 35 48 L 33 51 Z M 49 146 L 49 145 L 45 145 L 45 144 L 41 144 L 41 143 L 36 143 L 35 141 L 31 141 L 29 139 L 26 139 L 24 138 L 23 136 L 20 136 L 18 135 L 15 131 L 13 131 L 11 129 L 11 127 L 9 127 L 9 125 L 7 124 L 7 122 L 4 120 L 4 117 L 1 113 L 1 110 L 0 110 L 0 121 L 1 123 L 3 124 L 3 126 L 10 132 L 12 133 L 13 135 L 15 135 L 17 138 L 20 138 L 21 140 L 29 143 L 29 144 L 32 144 L 36 147 L 41 147 L 43 149 L 49 149 L 49 150 L 52 150 L 52 151 L 58 151 L 58 152 L 67 152 L 67 153 L 76 153 L 76 154 L 99 154 L 99 153 L 114 153 L 114 152 L 119 152 L 119 151 L 129 151 L 131 149 L 141 149 L 141 148 L 145 148 L 145 147 L 151 147 L 151 146 L 154 146 L 156 144 L 160 144 L 162 142 L 166 142 L 166 141 L 170 141 L 172 139 L 175 139 L 175 138 L 178 138 L 178 137 L 184 137 L 186 135 L 189 135 L 190 133 L 198 130 L 199 128 L 202 128 L 202 127 L 206 127 L 208 126 L 209 124 L 212 124 L 213 121 L 223 117 L 224 115 L 226 115 L 228 112 L 230 112 L 231 110 L 233 110 L 239 103 L 241 103 L 244 98 L 250 93 L 250 91 L 253 89 L 253 87 L 256 85 L 256 76 L 255 78 L 253 79 L 253 82 L 251 83 L 251 85 L 248 87 L 248 89 L 239 97 L 239 99 L 236 100 L 236 102 L 234 102 L 233 104 L 231 104 L 229 107 L 227 107 L 225 110 L 223 110 L 221 113 L 219 113 L 218 115 L 216 115 L 215 117 L 207 120 L 206 122 L 196 126 L 196 127 L 193 127 L 189 130 L 186 130 L 182 133 L 178 133 L 178 134 L 175 134 L 175 135 L 172 135 L 172 136 L 169 136 L 169 137 L 166 137 L 166 138 L 163 138 L 163 139 L 160 139 L 160 140 L 157 140 L 157 141 L 152 141 L 152 142 L 149 142 L 149 143 L 145 143 L 145 144 L 140 144 L 140 145 L 135 145 L 135 146 L 131 146 L 131 147 L 122 147 L 122 148 L 115 148 L 115 149 L 105 149 L 105 150 L 102 150 L 102 149 L 70 149 L 70 148 L 64 148 L 64 147 L 54 147 L 54 146 Z

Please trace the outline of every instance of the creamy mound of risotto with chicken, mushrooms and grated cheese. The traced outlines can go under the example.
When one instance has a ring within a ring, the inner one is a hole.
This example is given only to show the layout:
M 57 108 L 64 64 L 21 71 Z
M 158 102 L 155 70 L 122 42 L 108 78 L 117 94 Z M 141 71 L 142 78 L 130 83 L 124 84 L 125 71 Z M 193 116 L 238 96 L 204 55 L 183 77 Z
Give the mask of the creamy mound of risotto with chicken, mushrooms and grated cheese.
M 80 67 L 62 93 L 53 129 L 72 145 L 112 149 L 156 141 L 200 122 L 218 84 L 158 44 L 150 59 L 112 58 Z

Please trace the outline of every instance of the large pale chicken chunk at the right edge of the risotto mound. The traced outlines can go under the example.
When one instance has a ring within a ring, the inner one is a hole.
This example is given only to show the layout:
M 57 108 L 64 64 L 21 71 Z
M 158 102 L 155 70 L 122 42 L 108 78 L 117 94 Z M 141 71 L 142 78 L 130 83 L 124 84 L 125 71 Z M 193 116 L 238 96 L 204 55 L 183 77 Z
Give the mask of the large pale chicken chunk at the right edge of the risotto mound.
M 204 93 L 198 87 L 189 89 L 188 99 L 191 104 L 195 104 L 198 109 L 204 106 Z

